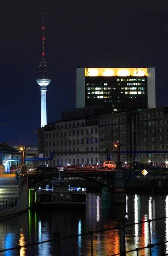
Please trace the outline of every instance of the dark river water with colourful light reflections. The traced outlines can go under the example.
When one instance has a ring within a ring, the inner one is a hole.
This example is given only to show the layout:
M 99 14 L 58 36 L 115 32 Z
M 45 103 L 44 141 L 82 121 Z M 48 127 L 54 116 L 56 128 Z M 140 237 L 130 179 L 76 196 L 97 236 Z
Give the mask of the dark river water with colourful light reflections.
M 127 194 L 126 223 L 137 223 L 148 218 L 168 216 L 168 195 Z M 87 210 L 82 212 L 29 212 L 0 221 L 0 250 L 36 241 L 52 239 L 58 230 L 61 236 L 71 236 L 115 227 L 120 218 L 125 217 L 125 209 L 102 202 L 101 193 L 87 193 Z M 151 222 L 152 243 L 168 241 L 168 219 Z M 126 249 L 145 247 L 149 244 L 148 223 L 135 225 L 125 230 Z M 46 243 L 22 248 L 20 256 L 55 255 L 55 244 Z M 152 255 L 159 256 L 160 247 L 152 248 Z M 105 256 L 119 253 L 119 230 L 110 230 L 93 235 L 93 255 Z M 168 253 L 168 245 L 166 254 Z M 0 256 L 18 256 L 16 250 L 0 253 Z M 61 256 L 90 256 L 90 236 L 80 236 L 61 241 Z M 127 253 L 136 256 L 135 252 Z M 139 252 L 150 255 L 149 249 Z

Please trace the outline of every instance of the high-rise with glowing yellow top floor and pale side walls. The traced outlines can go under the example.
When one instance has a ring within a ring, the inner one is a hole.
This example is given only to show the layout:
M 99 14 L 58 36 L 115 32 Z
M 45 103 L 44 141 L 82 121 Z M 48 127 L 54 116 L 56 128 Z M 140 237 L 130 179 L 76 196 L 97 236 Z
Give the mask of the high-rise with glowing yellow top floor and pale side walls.
M 76 108 L 103 106 L 104 113 L 155 108 L 155 68 L 76 70 Z

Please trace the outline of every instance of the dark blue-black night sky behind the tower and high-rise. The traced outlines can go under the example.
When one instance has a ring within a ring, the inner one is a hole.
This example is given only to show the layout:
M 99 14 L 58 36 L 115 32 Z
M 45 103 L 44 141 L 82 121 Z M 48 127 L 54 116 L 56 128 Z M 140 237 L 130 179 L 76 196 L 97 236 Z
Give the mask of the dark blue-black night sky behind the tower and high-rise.
M 168 1 L 3 1 L 0 143 L 37 145 L 44 9 L 47 121 L 75 108 L 75 69 L 156 67 L 156 107 L 168 104 Z

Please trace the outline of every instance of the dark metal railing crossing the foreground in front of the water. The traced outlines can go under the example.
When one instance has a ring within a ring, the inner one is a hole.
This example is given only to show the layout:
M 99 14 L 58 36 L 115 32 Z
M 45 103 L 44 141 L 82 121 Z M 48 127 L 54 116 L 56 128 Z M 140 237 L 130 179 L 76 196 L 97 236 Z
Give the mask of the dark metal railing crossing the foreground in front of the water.
M 152 253 L 152 248 L 155 247 L 155 246 L 158 246 L 158 245 L 161 245 L 162 246 L 162 251 L 161 251 L 161 256 L 165 256 L 165 244 L 168 243 L 168 241 L 160 241 L 156 244 L 152 244 L 151 243 L 151 222 L 152 221 L 158 221 L 158 220 L 162 220 L 162 219 L 166 219 L 168 217 L 163 217 L 163 218 L 156 218 L 156 219 L 153 219 L 153 220 L 147 220 L 147 221 L 141 221 L 141 222 L 138 222 L 138 223 L 133 223 L 133 224 L 126 224 L 125 225 L 125 222 L 122 222 L 120 225 L 116 226 L 116 227 L 112 227 L 112 228 L 107 228 L 107 229 L 102 229 L 102 230 L 93 230 L 93 231 L 90 231 L 90 232 L 87 232 L 87 233 L 82 233 L 82 234 L 79 234 L 79 235 L 73 235 L 73 236 L 65 236 L 65 237 L 60 237 L 61 236 L 61 233 L 59 233 L 58 231 L 56 231 L 55 233 L 53 233 L 53 236 L 55 236 L 54 239 L 49 239 L 49 240 L 46 240 L 46 241 L 42 241 L 42 242 L 35 242 L 35 243 L 31 243 L 31 244 L 25 244 L 23 246 L 20 246 L 19 244 L 16 246 L 16 247 L 12 247 L 12 248 L 9 248 L 9 249 L 4 249 L 4 250 L 0 250 L 0 253 L 2 252 L 6 252 L 6 251 L 10 251 L 10 250 L 17 250 L 17 255 L 20 256 L 20 250 L 21 248 L 23 247 L 31 247 L 31 246 L 35 246 L 35 245 L 38 245 L 38 244 L 44 244 L 44 243 L 49 243 L 49 242 L 54 242 L 55 243 L 55 249 L 56 249 L 56 256 L 61 256 L 61 240 L 65 240 L 65 239 L 71 239 L 71 238 L 75 238 L 75 237 L 80 237 L 80 236 L 87 236 L 87 235 L 90 235 L 90 255 L 93 256 L 93 235 L 96 234 L 96 233 L 102 233 L 102 232 L 105 232 L 105 231 L 109 231 L 109 230 L 119 230 L 119 236 L 120 236 L 120 252 L 119 253 L 116 253 L 116 254 L 112 254 L 110 256 L 117 256 L 117 255 L 120 255 L 120 256 L 126 256 L 127 253 L 131 253 L 131 252 L 136 252 L 136 255 L 139 256 L 139 251 L 140 250 L 144 250 L 144 249 L 149 249 L 149 255 L 150 256 L 155 256 L 155 252 Z M 148 228 L 149 228 L 149 244 L 145 247 L 138 247 L 138 248 L 135 248 L 133 250 L 127 250 L 125 249 L 125 228 L 127 227 L 131 227 L 131 226 L 134 226 L 134 225 L 137 225 L 137 224 L 143 224 L 143 223 L 148 223 Z M 104 255 L 105 255 L 105 252 L 104 252 Z

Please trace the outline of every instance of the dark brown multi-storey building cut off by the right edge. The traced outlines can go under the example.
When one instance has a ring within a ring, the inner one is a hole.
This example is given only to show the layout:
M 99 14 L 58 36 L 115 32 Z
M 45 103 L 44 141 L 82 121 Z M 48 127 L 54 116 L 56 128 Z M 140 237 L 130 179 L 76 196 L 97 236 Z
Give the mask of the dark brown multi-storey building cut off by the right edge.
M 168 107 L 131 113 L 132 150 L 168 151 Z M 164 162 L 167 153 L 134 154 L 136 161 Z

